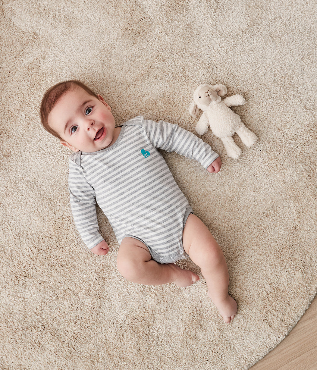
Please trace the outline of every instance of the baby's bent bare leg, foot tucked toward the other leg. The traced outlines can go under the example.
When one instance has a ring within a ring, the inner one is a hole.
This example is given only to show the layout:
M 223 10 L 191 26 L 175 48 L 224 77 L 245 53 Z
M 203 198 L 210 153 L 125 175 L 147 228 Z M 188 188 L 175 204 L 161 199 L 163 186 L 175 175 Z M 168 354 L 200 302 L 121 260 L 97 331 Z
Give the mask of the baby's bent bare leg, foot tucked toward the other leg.
M 185 287 L 199 279 L 198 275 L 189 270 L 183 270 L 174 263 L 156 262 L 144 243 L 129 237 L 122 240 L 117 266 L 125 279 L 143 285 L 174 283 Z

